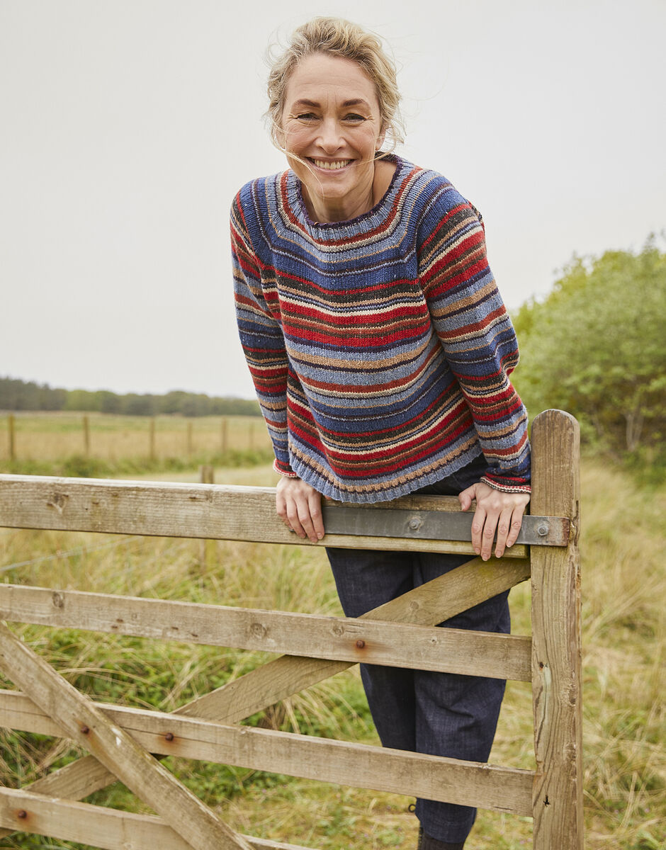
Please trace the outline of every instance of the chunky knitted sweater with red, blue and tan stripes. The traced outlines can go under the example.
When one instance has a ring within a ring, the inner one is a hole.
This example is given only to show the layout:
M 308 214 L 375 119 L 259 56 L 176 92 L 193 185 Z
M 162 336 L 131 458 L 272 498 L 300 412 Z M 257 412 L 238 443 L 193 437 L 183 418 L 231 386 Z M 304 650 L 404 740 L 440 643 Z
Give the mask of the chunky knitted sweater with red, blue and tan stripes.
M 291 171 L 231 208 L 236 315 L 276 455 L 342 501 L 394 499 L 483 452 L 484 480 L 529 491 L 515 333 L 474 207 L 397 156 L 382 201 L 310 220 Z

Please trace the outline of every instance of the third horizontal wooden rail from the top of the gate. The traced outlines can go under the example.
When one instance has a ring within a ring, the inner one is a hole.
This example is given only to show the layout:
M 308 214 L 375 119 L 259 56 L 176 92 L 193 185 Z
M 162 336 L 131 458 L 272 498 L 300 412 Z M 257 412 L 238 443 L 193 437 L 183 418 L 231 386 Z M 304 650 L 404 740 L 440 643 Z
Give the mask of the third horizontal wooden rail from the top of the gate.
M 31 705 L 25 694 L 5 691 L 0 692 L 0 698 L 3 714 L 12 719 L 14 728 L 56 734 L 54 720 Z M 529 770 L 270 729 L 227 726 L 198 717 L 176 717 L 105 703 L 94 706 L 114 727 L 124 729 L 148 751 L 162 755 L 476 805 L 498 812 L 532 812 L 534 774 Z M 168 734 L 173 740 L 167 740 Z

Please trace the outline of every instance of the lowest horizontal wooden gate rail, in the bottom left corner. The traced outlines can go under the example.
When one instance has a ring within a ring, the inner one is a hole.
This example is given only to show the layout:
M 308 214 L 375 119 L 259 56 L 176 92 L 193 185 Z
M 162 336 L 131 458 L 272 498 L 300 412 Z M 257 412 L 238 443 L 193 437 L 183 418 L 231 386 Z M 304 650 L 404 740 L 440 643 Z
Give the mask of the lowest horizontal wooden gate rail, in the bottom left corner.
M 25 812 L 26 817 L 19 818 L 19 812 Z M 0 830 L 3 835 L 28 832 L 103 850 L 191 850 L 191 844 L 154 815 L 119 812 L 11 788 L 0 787 L 0 826 L 5 827 Z M 253 850 L 307 850 L 295 844 L 242 838 Z

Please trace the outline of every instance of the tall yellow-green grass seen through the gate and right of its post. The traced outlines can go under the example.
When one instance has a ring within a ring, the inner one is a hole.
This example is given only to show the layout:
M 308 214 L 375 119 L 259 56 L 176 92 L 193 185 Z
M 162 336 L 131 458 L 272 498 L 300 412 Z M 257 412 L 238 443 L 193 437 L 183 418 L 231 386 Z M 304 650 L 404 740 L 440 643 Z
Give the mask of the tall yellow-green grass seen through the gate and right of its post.
M 91 421 L 92 422 L 92 421 Z M 196 473 L 152 478 L 196 479 Z M 217 483 L 274 484 L 269 466 L 218 469 Z M 586 847 L 664 846 L 663 610 L 666 490 L 640 489 L 601 462 L 583 464 L 583 738 Z M 322 551 L 219 542 L 0 529 L 0 581 L 323 614 L 339 603 Z M 514 632 L 529 630 L 529 589 L 511 594 Z M 259 654 L 13 626 L 66 677 L 101 700 L 168 711 L 241 675 Z M 0 683 L 11 687 L 10 683 Z M 660 687 L 662 688 L 660 694 Z M 376 743 L 356 670 L 251 718 L 251 723 Z M 19 786 L 75 756 L 60 740 L 3 734 L 0 780 Z M 532 767 L 529 687 L 509 683 L 494 763 Z M 286 776 L 167 760 L 237 830 L 322 850 L 415 847 L 412 800 Z M 94 796 L 140 804 L 115 785 Z M 466 850 L 519 850 L 531 821 L 480 812 Z M 80 847 L 14 835 L 0 847 Z M 558 850 L 558 848 L 553 848 Z

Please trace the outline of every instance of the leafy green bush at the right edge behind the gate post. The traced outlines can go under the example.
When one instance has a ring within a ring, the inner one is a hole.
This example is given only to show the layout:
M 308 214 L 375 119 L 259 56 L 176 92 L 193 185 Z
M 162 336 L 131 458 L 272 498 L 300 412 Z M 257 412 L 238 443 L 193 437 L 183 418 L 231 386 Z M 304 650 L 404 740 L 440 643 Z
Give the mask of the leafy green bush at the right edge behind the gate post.
M 569 411 L 588 442 L 664 465 L 666 254 L 574 258 L 543 301 L 515 316 L 524 365 L 516 387 L 533 415 Z

